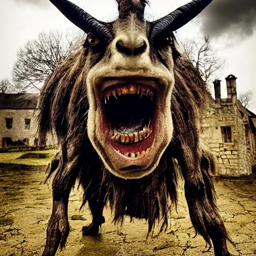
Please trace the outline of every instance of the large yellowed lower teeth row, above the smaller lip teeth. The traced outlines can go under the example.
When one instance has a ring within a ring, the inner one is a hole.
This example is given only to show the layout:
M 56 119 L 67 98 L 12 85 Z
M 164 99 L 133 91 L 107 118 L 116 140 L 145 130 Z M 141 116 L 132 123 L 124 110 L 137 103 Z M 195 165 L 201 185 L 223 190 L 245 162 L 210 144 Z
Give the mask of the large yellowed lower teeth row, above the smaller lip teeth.
M 149 129 L 149 125 L 145 125 L 142 130 L 139 132 L 135 131 L 128 134 L 123 134 L 120 132 L 117 132 L 116 129 L 110 131 L 111 138 L 114 139 L 116 142 L 121 143 L 133 143 L 138 142 L 139 140 L 143 140 L 146 137 L 148 137 L 151 133 L 151 130 Z

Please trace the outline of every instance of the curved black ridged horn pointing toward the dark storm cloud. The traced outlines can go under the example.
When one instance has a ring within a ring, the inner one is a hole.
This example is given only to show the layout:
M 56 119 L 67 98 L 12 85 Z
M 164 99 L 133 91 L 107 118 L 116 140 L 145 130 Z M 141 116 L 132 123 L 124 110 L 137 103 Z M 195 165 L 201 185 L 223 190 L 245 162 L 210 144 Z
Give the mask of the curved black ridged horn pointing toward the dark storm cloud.
M 212 0 L 193 0 L 178 7 L 168 15 L 153 21 L 150 41 L 157 38 L 162 32 L 175 31 L 197 16 Z

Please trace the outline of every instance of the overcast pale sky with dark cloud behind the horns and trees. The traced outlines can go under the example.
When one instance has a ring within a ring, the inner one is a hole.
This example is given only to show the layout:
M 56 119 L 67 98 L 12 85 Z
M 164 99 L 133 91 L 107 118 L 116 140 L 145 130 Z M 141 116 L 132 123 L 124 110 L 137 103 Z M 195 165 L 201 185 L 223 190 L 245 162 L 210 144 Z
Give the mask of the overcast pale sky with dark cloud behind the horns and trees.
M 94 17 L 103 21 L 117 15 L 114 0 L 73 0 Z M 146 14 L 159 18 L 188 0 L 150 0 Z M 49 0 L 0 0 L 0 79 L 11 78 L 17 50 L 39 31 L 75 29 Z M 226 96 L 225 79 L 237 77 L 237 92 L 252 90 L 256 102 L 254 73 L 256 66 L 256 0 L 213 0 L 210 5 L 180 29 L 179 34 L 192 37 L 208 34 L 219 55 L 226 59 L 221 93 Z M 256 112 L 256 106 L 251 108 Z

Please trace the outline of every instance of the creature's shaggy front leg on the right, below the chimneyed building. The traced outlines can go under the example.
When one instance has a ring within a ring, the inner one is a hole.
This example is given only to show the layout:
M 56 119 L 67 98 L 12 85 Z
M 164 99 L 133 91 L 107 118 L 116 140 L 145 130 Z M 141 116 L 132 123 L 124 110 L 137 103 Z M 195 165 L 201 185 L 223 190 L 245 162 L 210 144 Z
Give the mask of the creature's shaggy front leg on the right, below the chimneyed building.
M 226 245 L 226 240 L 230 239 L 218 213 L 212 177 L 205 166 L 208 166 L 206 159 L 202 159 L 200 171 L 185 177 L 185 197 L 191 222 L 208 244 L 212 241 L 215 256 L 230 256 Z

